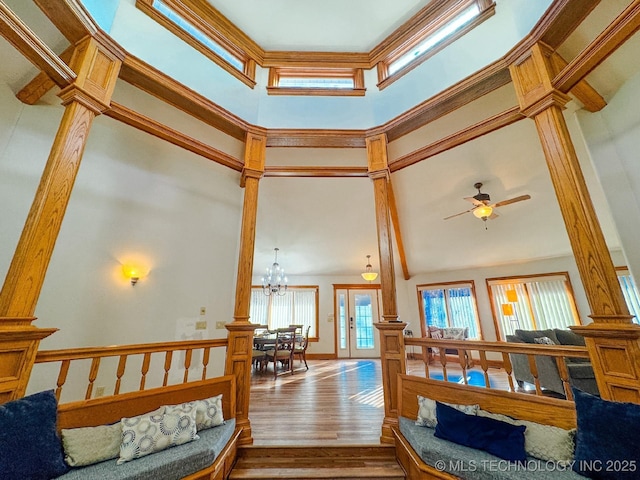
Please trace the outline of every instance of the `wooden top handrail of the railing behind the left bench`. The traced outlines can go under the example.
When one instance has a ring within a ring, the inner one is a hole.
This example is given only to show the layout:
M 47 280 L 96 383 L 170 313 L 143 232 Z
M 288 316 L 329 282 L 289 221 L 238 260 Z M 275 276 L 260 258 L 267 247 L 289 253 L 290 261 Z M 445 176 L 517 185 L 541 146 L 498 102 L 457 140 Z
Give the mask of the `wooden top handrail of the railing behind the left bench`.
M 61 350 L 41 350 L 35 363 L 59 362 L 62 360 L 82 360 L 94 357 L 115 357 L 118 355 L 138 355 L 143 353 L 176 350 L 197 350 L 200 348 L 226 347 L 227 339 L 185 340 L 180 342 L 139 343 L 134 345 L 112 345 L 107 347 L 81 347 Z

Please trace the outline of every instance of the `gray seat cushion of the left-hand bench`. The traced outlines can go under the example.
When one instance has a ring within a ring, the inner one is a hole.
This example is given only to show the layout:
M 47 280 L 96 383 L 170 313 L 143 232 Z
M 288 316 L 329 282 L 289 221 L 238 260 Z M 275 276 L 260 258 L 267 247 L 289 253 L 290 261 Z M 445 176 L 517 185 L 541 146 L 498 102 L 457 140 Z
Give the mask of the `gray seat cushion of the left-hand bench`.
M 235 430 L 235 419 L 224 425 L 198 432 L 200 438 L 190 443 L 152 453 L 122 465 L 117 459 L 87 467 L 72 468 L 60 480 L 179 480 L 209 467 L 220 455 Z

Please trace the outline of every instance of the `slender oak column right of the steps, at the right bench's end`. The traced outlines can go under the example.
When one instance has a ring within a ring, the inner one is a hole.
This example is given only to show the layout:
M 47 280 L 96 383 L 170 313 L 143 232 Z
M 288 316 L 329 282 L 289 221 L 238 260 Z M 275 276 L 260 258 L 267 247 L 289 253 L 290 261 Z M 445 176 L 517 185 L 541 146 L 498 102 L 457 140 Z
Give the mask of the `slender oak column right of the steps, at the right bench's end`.
M 382 443 L 393 443 L 391 428 L 398 425 L 398 378 L 406 372 L 403 330 L 405 323 L 398 321 L 396 301 L 396 277 L 393 265 L 391 241 L 391 214 L 389 211 L 389 165 L 387 162 L 387 137 L 384 134 L 367 138 L 369 178 L 373 181 L 373 193 L 378 231 L 380 257 L 380 288 L 382 290 L 382 322 L 375 326 L 380 333 L 380 362 L 382 366 L 382 390 L 384 395 L 384 420 Z

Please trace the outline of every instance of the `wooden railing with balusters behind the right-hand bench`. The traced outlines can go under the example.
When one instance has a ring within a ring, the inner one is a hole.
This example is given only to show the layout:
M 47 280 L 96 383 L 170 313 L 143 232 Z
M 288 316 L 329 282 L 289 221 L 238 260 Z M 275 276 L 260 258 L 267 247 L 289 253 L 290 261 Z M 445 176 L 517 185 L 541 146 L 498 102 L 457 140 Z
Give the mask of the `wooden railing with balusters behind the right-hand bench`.
M 417 346 L 422 349 L 422 358 L 424 360 L 425 375 L 429 378 L 429 364 L 434 361 L 434 367 L 441 367 L 444 380 L 448 380 L 447 365 L 451 361 L 451 356 L 447 355 L 445 350 L 456 350 L 457 356 L 454 360 L 462 369 L 462 382 L 467 384 L 467 371 L 473 364 L 479 365 L 484 374 L 484 384 L 486 388 L 492 388 L 489 378 L 489 369 L 498 369 L 504 372 L 507 377 L 509 390 L 517 391 L 514 384 L 514 372 L 511 356 L 514 354 L 525 355 L 531 375 L 533 377 L 533 385 L 535 386 L 536 395 L 542 395 L 542 387 L 540 385 L 538 365 L 536 363 L 537 356 L 547 356 L 555 359 L 558 367 L 560 380 L 564 387 L 565 397 L 567 400 L 573 400 L 571 385 L 569 382 L 569 371 L 567 368 L 566 358 L 584 358 L 589 359 L 589 353 L 586 347 L 575 347 L 566 345 L 537 345 L 526 343 L 509 343 L 509 342 L 484 342 L 474 340 L 448 340 L 433 338 L 411 338 L 405 337 L 405 346 Z M 438 355 L 431 355 L 429 348 L 438 349 Z

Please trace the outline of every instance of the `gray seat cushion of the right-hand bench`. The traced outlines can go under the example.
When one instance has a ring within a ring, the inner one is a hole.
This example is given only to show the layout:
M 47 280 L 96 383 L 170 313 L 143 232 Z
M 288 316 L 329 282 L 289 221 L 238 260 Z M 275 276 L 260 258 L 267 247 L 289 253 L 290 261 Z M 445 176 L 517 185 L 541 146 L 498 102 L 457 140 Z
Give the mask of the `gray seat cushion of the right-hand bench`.
M 524 466 L 509 464 L 482 450 L 458 445 L 433 435 L 432 428 L 419 427 L 415 421 L 399 418 L 400 432 L 411 447 L 432 467 L 467 480 L 584 480 L 585 477 L 571 470 L 569 465 L 556 465 L 528 457 Z M 436 464 L 436 462 L 440 462 Z M 440 467 L 444 468 L 440 468 Z

